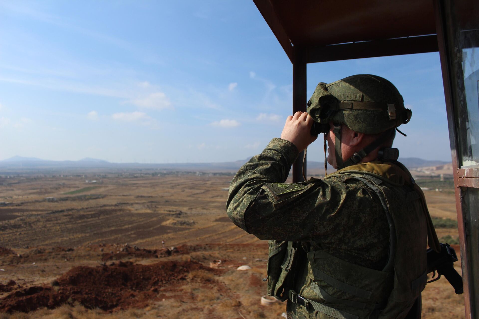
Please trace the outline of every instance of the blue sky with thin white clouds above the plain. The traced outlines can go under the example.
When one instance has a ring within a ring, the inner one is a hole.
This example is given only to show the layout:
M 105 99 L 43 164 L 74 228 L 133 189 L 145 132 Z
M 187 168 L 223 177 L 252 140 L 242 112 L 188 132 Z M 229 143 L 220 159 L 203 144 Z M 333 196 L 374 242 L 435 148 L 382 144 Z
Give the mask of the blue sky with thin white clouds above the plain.
M 361 73 L 413 111 L 401 157 L 451 160 L 438 53 L 308 65 L 308 96 Z M 252 1 L 0 0 L 0 159 L 245 159 L 291 105 L 292 65 Z

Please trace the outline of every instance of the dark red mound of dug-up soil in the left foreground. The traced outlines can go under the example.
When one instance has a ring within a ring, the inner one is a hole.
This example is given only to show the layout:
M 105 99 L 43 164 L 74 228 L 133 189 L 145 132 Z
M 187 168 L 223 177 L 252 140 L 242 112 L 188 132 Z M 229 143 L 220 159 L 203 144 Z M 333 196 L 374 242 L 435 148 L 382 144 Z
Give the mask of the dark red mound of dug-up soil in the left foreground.
M 186 280 L 193 270 L 222 273 L 196 262 L 168 261 L 152 265 L 119 262 L 110 266 L 79 266 L 54 281 L 54 287 L 32 286 L 0 299 L 0 311 L 28 312 L 74 302 L 86 308 L 103 310 L 145 307 L 150 300 L 159 298 L 159 290 Z

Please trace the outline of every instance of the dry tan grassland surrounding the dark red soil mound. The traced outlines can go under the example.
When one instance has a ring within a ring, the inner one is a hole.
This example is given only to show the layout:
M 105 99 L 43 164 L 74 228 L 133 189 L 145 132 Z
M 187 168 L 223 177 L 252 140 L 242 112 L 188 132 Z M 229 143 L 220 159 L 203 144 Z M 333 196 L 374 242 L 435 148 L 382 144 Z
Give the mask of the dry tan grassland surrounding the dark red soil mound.
M 161 240 L 165 240 L 166 247 L 181 243 L 259 243 L 258 239 L 230 221 L 220 219 L 225 216 L 227 197 L 227 192 L 221 188 L 227 187 L 230 180 L 231 176 L 112 176 L 103 178 L 102 187 L 95 190 L 105 195 L 103 198 L 58 202 L 46 202 L 44 198 L 62 197 L 68 191 L 81 189 L 85 186 L 84 178 L 40 178 L 0 185 L 0 193 L 4 198 L 8 197 L 4 200 L 18 205 L 0 208 L 2 245 L 24 254 L 22 259 L 14 256 L 0 260 L 6 270 L 2 276 L 6 281 L 13 279 L 23 286 L 32 286 L 51 283 L 79 264 L 97 266 L 102 262 L 101 254 L 86 246 L 87 242 L 128 242 L 143 248 L 160 248 Z M 60 183 L 66 185 L 57 186 Z M 453 194 L 426 191 L 425 195 L 433 217 L 456 220 Z M 7 210 L 13 208 L 17 210 Z M 2 220 L 2 216 L 14 218 Z M 165 225 L 165 222 L 169 224 L 178 220 L 193 220 L 195 223 L 180 227 L 178 223 Z M 456 238 L 458 235 L 456 228 L 441 228 L 437 233 L 439 237 L 450 235 Z M 30 248 L 25 248 L 27 245 Z M 36 245 L 47 249 L 83 246 L 71 253 L 32 253 L 32 247 Z M 240 319 L 239 312 L 247 319 L 281 318 L 285 303 L 277 302 L 269 307 L 260 305 L 260 298 L 266 292 L 266 284 L 261 282 L 266 276 L 266 262 L 254 260 L 267 259 L 267 245 L 228 247 L 168 259 L 194 260 L 205 265 L 213 260 L 226 260 L 230 264 L 248 264 L 251 270 L 240 272 L 226 267 L 227 272 L 221 276 L 204 270 L 193 271 L 186 277 L 187 285 L 171 288 L 171 291 L 164 292 L 165 300 L 152 301 L 142 309 L 108 313 L 81 305 L 64 305 L 28 314 L 0 313 L 0 319 L 190 318 L 192 313 L 198 318 Z M 152 264 L 158 259 L 133 261 Z M 458 266 L 456 263 L 456 269 L 460 271 Z M 202 284 L 205 282 L 207 284 Z M 422 296 L 423 318 L 464 318 L 464 297 L 455 295 L 445 278 L 427 285 Z

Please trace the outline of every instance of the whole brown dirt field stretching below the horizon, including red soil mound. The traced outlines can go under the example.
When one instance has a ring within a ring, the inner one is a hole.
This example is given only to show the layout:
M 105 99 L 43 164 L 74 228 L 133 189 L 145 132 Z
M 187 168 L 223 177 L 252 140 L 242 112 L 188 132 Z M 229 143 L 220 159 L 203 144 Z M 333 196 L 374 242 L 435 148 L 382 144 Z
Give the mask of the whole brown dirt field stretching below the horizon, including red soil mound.
M 225 215 L 231 178 L 2 178 L 0 319 L 282 318 L 284 304 L 260 305 L 267 243 Z M 456 220 L 454 194 L 425 194 L 432 216 Z M 422 299 L 423 318 L 464 318 L 444 278 Z

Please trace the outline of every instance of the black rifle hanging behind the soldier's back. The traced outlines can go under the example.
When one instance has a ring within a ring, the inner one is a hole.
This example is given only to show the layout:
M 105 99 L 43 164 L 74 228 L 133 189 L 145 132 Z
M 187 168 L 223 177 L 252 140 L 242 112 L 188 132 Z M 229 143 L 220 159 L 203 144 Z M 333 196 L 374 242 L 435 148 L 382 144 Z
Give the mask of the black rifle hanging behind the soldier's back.
M 434 273 L 437 271 L 437 277 L 428 281 L 433 281 L 441 278 L 444 275 L 447 281 L 454 287 L 457 295 L 463 293 L 462 277 L 454 269 L 454 263 L 457 261 L 456 251 L 449 244 L 441 244 L 441 252 L 436 253 L 432 248 L 427 250 L 427 273 Z

